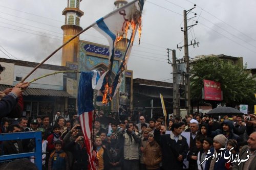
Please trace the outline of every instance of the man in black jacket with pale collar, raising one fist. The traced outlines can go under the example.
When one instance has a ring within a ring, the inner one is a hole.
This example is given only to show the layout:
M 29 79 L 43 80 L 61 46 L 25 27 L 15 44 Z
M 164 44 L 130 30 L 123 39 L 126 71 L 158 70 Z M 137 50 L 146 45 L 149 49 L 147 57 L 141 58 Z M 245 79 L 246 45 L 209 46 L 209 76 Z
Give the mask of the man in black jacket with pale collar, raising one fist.
M 160 135 L 161 123 L 156 123 L 154 139 L 162 148 L 162 168 L 164 170 L 182 170 L 183 160 L 189 150 L 187 140 L 181 135 L 182 128 L 174 123 L 170 134 Z

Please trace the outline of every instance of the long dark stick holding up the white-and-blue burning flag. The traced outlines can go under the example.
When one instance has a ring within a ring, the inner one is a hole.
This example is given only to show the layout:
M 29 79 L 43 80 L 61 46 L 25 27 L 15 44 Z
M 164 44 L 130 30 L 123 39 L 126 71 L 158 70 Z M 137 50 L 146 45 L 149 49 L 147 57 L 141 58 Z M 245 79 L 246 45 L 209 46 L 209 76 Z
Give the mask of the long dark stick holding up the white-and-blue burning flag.
M 127 6 L 132 5 L 133 3 L 135 3 L 138 0 L 134 0 L 112 12 L 110 12 L 109 14 L 106 14 L 104 17 L 100 18 L 99 20 L 97 20 L 96 22 L 92 23 L 92 25 L 90 25 L 89 27 L 83 29 L 82 31 L 80 31 L 79 33 L 77 33 L 76 35 L 74 35 L 74 37 L 70 38 L 70 40 L 68 40 L 67 42 L 63 43 L 60 47 L 58 47 L 52 54 L 50 54 L 50 56 L 48 56 L 45 60 L 43 60 L 42 62 L 40 62 L 22 81 L 20 81 L 21 83 L 24 82 L 40 65 L 44 64 L 49 58 L 51 58 L 55 53 L 57 53 L 63 46 L 67 45 L 70 41 L 72 41 L 73 39 L 75 39 L 76 37 L 78 37 L 80 34 L 82 34 L 83 32 L 87 31 L 88 29 L 92 28 L 94 25 L 96 25 L 98 22 L 100 22 L 101 20 L 111 16 L 112 14 L 116 13 L 117 11 L 120 11 L 123 8 L 126 8 Z

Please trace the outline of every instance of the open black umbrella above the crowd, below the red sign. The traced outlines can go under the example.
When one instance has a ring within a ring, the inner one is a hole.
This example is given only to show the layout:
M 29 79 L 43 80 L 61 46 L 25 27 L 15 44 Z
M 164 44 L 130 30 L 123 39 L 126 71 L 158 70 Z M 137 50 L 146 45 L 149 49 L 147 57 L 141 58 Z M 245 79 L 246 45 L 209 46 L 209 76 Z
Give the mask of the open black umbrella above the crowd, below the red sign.
M 208 113 L 206 113 L 207 115 L 244 115 L 244 113 L 242 113 L 241 111 L 239 111 L 238 109 L 232 108 L 232 107 L 217 107 L 215 109 L 212 109 L 211 111 L 209 111 Z

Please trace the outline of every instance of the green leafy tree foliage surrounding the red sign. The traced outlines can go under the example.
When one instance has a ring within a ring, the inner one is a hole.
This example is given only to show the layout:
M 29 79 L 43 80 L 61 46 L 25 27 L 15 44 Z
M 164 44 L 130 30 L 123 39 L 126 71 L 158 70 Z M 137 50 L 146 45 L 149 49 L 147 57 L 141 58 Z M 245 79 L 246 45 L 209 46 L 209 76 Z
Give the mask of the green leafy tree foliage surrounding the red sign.
M 254 104 L 256 92 L 256 77 L 238 65 L 221 60 L 218 57 L 208 57 L 193 63 L 191 69 L 190 89 L 191 100 L 203 102 L 203 80 L 221 83 L 223 103 L 227 106 L 237 104 Z M 204 101 L 206 102 L 206 101 Z

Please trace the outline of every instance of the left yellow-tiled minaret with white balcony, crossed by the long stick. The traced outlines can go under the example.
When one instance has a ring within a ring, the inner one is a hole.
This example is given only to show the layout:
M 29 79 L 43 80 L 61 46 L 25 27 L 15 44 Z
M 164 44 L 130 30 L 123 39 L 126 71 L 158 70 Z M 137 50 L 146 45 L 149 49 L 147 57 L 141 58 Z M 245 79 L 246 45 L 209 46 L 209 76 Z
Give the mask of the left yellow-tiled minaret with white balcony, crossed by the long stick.
M 83 12 L 79 9 L 81 1 L 68 0 L 68 7 L 62 11 L 62 15 L 65 15 L 65 25 L 61 26 L 63 30 L 63 43 L 82 31 L 80 17 L 83 15 Z M 79 36 L 62 48 L 61 66 L 66 66 L 67 62 L 77 62 L 78 45 Z

